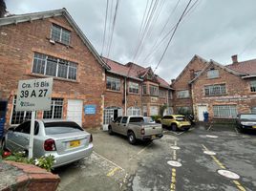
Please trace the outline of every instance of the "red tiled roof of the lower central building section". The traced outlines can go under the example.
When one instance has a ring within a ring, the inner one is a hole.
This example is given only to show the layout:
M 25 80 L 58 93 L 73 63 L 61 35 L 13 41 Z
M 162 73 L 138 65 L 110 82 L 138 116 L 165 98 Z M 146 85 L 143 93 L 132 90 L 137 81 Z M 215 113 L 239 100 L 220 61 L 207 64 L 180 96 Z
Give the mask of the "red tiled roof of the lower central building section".
M 110 73 L 124 75 L 134 79 L 142 80 L 141 77 L 143 77 L 150 70 L 150 67 L 144 68 L 132 62 L 123 65 L 111 59 L 104 57 L 102 59 L 111 67 L 111 70 L 109 71 Z M 157 79 L 160 83 L 160 87 L 170 88 L 168 82 L 166 82 L 160 76 L 157 75 Z

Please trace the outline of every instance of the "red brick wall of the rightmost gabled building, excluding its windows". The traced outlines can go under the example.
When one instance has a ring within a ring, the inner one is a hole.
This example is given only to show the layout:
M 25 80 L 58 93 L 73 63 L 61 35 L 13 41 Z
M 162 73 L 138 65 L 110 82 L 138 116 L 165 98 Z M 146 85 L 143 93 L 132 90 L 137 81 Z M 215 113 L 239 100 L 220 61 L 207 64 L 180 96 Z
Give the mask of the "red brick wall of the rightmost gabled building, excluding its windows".
M 250 92 L 248 80 L 241 76 L 230 74 L 224 69 L 210 65 L 219 70 L 220 77 L 214 79 L 207 78 L 207 72 L 203 73 L 198 80 L 193 83 L 193 103 L 194 113 L 197 117 L 198 105 L 206 105 L 209 117 L 213 117 L 213 105 L 236 105 L 238 113 L 249 113 L 251 107 L 256 107 L 256 93 Z M 225 96 L 204 96 L 204 86 L 213 84 L 225 84 Z

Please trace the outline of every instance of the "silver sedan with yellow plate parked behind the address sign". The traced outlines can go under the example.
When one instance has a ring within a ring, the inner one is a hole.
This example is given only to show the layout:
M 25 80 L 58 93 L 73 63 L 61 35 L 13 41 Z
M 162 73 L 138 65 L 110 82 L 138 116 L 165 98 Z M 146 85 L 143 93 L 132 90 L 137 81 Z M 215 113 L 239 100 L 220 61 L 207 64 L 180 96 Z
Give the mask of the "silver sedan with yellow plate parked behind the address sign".
M 3 149 L 29 151 L 31 121 L 8 130 L 2 139 Z M 34 121 L 33 157 L 53 155 L 54 167 L 88 157 L 93 152 L 93 137 L 74 121 Z

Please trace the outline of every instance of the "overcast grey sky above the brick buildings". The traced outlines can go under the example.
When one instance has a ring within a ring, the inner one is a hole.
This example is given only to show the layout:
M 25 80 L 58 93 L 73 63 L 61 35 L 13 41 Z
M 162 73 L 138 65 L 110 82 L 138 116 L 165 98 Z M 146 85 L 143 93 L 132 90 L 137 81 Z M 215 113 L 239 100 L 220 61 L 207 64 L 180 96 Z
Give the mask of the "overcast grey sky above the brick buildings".
M 155 4 L 156 1 L 159 4 Z M 238 61 L 256 58 L 255 0 L 192 0 L 190 7 L 196 2 L 195 6 L 181 19 L 168 47 L 171 30 L 178 23 L 189 0 L 118 0 L 115 27 L 113 20 L 117 0 L 109 0 L 107 20 L 107 0 L 5 2 L 7 10 L 13 14 L 66 8 L 97 53 L 122 64 L 135 62 L 143 67 L 151 67 L 153 71 L 157 68 L 155 74 L 167 82 L 176 78 L 195 54 L 224 65 L 231 63 L 233 54 L 238 54 Z M 150 5 L 156 8 L 151 17 L 147 16 Z M 150 21 L 148 25 L 142 25 L 143 18 L 151 18 L 147 19 Z M 145 26 L 148 32 L 141 30 Z M 107 46 L 112 29 L 112 43 Z M 139 32 L 144 34 L 140 46 Z

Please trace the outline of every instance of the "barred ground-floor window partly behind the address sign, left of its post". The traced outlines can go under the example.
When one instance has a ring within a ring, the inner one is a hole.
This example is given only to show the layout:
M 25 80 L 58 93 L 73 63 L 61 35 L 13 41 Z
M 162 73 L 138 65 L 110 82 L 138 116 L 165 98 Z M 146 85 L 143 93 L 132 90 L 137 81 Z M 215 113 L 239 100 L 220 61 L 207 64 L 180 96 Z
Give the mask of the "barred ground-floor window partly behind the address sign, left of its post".
M 12 109 L 12 115 L 11 115 L 11 125 L 14 124 L 20 124 L 24 122 L 25 120 L 32 118 L 32 112 L 17 112 L 15 110 L 16 108 L 16 96 L 13 98 L 13 109 Z

